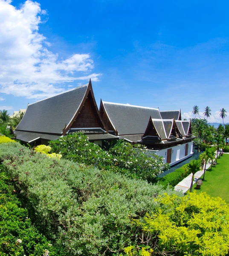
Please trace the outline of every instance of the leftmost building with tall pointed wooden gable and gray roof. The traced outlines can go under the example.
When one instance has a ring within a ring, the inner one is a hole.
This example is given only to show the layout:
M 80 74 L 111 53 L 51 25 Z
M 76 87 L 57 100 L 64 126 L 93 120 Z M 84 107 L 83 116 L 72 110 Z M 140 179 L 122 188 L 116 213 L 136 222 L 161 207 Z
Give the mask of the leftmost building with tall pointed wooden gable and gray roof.
M 14 133 L 23 143 L 47 144 L 74 131 L 86 134 L 91 142 L 117 140 L 109 134 L 96 105 L 91 80 L 88 84 L 29 104 Z

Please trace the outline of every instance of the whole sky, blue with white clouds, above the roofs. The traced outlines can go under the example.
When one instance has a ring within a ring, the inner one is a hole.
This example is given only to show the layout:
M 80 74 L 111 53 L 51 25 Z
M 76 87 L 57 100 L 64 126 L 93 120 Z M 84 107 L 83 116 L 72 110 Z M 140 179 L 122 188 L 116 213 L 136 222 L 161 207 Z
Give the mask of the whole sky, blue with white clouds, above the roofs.
M 0 0 L 0 109 L 85 84 L 97 104 L 229 112 L 229 2 Z M 203 116 L 203 113 L 200 113 Z M 229 113 L 226 118 L 229 122 Z

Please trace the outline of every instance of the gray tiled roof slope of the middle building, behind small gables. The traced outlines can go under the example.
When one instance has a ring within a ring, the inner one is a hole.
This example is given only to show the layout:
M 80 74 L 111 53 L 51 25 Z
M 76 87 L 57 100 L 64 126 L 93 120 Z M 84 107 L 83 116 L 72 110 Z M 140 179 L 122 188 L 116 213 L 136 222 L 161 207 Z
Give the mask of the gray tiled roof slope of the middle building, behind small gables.
M 104 109 L 119 135 L 144 134 L 150 116 L 161 119 L 158 109 L 103 102 Z

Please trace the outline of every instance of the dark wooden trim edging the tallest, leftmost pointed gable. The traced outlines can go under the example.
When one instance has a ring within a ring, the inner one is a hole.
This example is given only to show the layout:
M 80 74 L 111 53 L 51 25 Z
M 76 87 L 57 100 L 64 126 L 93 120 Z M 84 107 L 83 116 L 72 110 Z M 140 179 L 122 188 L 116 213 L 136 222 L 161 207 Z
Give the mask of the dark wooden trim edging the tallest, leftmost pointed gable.
M 77 118 L 78 114 L 80 113 L 80 111 L 84 107 L 84 103 L 86 102 L 86 99 L 87 99 L 87 96 L 89 95 L 89 93 L 91 93 L 92 100 L 93 100 L 94 106 L 96 108 L 96 112 L 99 115 L 99 119 L 101 121 L 101 128 L 105 129 L 105 125 L 104 125 L 104 123 L 101 119 L 99 109 L 98 109 L 97 104 L 96 104 L 95 96 L 94 96 L 93 89 L 92 89 L 91 79 L 90 79 L 90 81 L 88 83 L 88 86 L 87 86 L 86 93 L 84 95 L 84 98 L 82 99 L 82 102 L 81 102 L 78 110 L 75 112 L 74 116 L 72 117 L 71 121 L 68 123 L 68 125 L 67 124 L 65 125 L 65 127 L 63 129 L 63 132 L 62 132 L 62 135 L 65 135 L 67 133 L 67 131 L 71 128 L 73 122 L 75 122 L 75 119 Z

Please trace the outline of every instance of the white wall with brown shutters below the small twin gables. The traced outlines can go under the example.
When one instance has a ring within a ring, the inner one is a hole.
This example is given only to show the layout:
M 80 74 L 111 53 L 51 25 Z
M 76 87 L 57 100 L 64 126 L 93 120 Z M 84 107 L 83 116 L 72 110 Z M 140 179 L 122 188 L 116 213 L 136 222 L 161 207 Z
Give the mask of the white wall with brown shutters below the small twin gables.
M 186 144 L 188 144 L 188 155 L 185 156 L 185 147 Z M 171 163 L 170 166 L 174 165 L 175 163 L 178 163 L 182 160 L 185 160 L 188 157 L 191 157 L 193 154 L 192 149 L 193 149 L 193 141 L 181 144 L 181 145 L 176 145 L 172 148 L 172 155 L 171 155 Z M 164 163 L 166 163 L 167 159 L 167 150 L 169 148 L 161 149 L 161 150 L 150 150 L 147 149 L 148 154 L 158 154 L 160 157 L 164 158 Z

